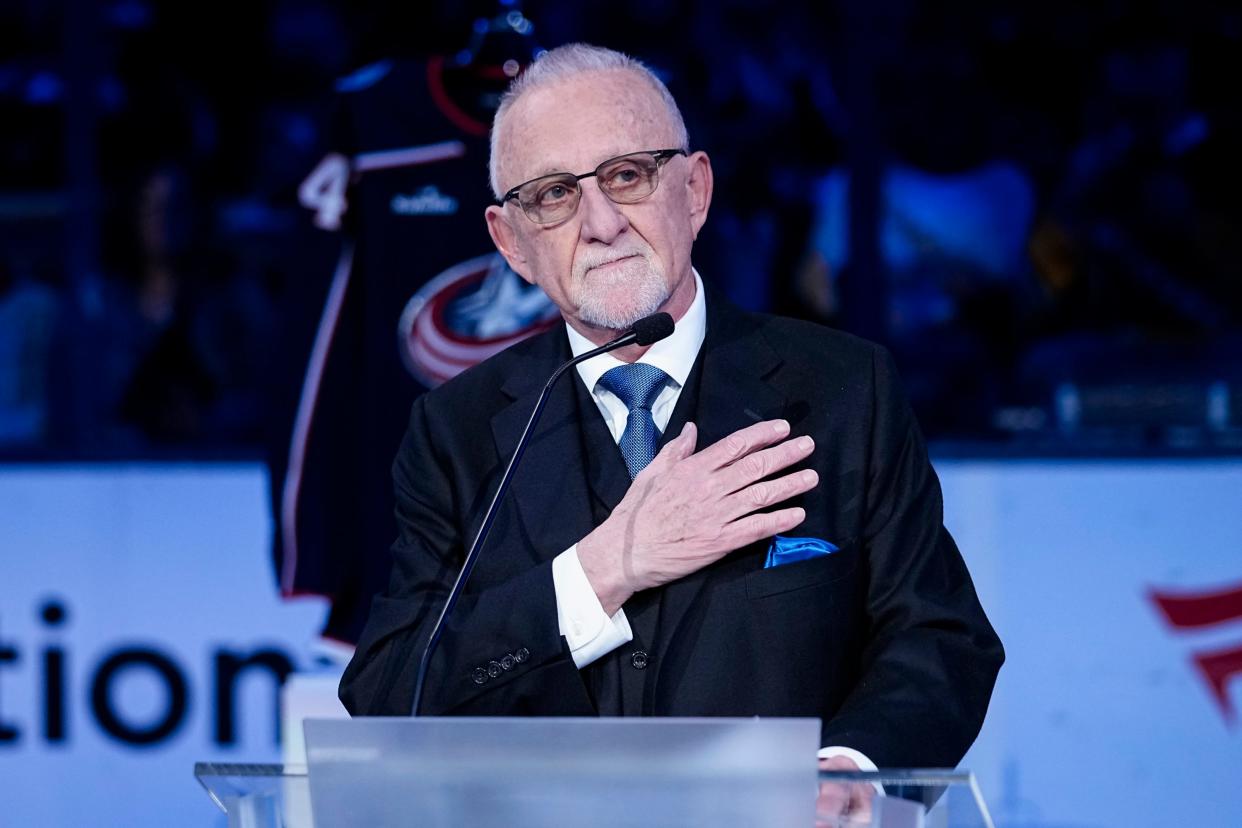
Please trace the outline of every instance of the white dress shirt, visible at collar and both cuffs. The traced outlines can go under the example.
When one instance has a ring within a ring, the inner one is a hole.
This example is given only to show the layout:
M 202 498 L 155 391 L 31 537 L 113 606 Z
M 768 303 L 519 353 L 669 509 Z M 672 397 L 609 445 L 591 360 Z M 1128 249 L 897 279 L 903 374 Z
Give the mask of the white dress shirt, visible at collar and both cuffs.
M 571 325 L 565 326 L 569 333 L 569 349 L 574 356 L 585 354 L 596 348 L 595 343 L 574 330 Z M 694 367 L 699 348 L 703 346 L 703 336 L 707 333 L 707 303 L 703 299 L 703 279 L 698 271 L 694 271 L 694 300 L 689 309 L 677 322 L 673 333 L 647 349 L 647 353 L 638 358 L 640 362 L 655 365 L 668 380 L 661 389 L 656 402 L 651 406 L 651 417 L 656 421 L 656 428 L 663 433 L 668 421 L 673 416 L 673 407 L 682 395 L 682 387 Z M 615 394 L 600 385 L 600 377 L 609 370 L 625 365 L 611 354 L 602 354 L 578 365 L 578 375 L 591 392 L 591 398 L 599 406 L 604 422 L 607 423 L 612 439 L 621 442 L 625 432 L 626 420 L 630 410 Z M 556 591 L 556 621 L 560 624 L 560 634 L 569 643 L 569 650 L 574 657 L 574 664 L 579 669 L 586 667 L 601 655 L 610 653 L 621 644 L 633 641 L 633 631 L 630 628 L 630 619 L 625 616 L 625 610 L 617 610 L 616 614 L 609 617 L 604 612 L 595 588 L 582 571 L 582 564 L 578 560 L 578 544 L 574 544 L 564 552 L 553 559 L 551 562 L 553 587 Z M 864 771 L 874 771 L 876 765 L 862 752 L 841 746 L 831 746 L 820 750 L 820 758 L 831 756 L 847 756 Z M 877 790 L 879 786 L 877 785 Z M 879 791 L 883 793 L 883 791 Z

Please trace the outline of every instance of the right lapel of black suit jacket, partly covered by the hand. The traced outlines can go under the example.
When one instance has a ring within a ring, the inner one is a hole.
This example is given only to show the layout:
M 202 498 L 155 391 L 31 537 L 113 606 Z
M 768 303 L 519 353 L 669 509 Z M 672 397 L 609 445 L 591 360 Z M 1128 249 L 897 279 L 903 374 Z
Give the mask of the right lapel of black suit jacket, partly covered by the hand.
M 759 318 L 733 308 L 717 293 L 708 292 L 707 298 L 707 333 L 696 369 L 698 449 L 745 426 L 785 416 L 786 408 L 785 392 L 769 382 L 781 358 L 760 333 Z M 704 587 L 714 569 L 699 570 L 663 590 L 657 641 L 664 658 L 658 662 L 653 699 L 658 700 L 661 684 L 676 689 L 688 667 L 702 622 Z

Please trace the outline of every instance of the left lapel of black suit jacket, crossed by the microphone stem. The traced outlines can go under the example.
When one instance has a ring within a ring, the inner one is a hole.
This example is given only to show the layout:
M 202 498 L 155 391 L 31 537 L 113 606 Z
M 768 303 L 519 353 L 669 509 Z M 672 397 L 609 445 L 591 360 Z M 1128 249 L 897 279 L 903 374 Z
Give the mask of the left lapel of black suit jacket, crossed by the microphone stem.
M 570 358 L 569 341 L 560 326 L 543 334 L 523 364 L 509 372 L 503 391 L 513 402 L 492 417 L 492 436 L 502 462 L 508 462 L 543 385 Z M 509 497 L 515 502 L 527 540 L 540 560 L 555 557 L 594 529 L 586 495 L 580 422 L 599 412 L 579 410 L 574 376 L 563 376 L 553 389 L 543 417 L 535 426 Z M 602 423 L 601 423 L 602 425 Z

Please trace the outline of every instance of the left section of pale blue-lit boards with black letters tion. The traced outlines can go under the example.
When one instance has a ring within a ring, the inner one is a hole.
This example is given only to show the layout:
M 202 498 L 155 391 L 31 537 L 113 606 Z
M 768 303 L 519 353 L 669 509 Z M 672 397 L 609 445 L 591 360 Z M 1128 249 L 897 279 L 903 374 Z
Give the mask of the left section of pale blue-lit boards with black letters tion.
M 0 824 L 222 826 L 195 761 L 278 761 L 282 602 L 255 466 L 0 469 Z

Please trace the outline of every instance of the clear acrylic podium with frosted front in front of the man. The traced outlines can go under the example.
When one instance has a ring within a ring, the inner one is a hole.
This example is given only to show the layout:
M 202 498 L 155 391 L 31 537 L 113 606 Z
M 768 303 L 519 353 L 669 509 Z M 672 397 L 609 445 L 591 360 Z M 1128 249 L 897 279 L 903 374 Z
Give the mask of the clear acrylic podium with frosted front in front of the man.
M 307 765 L 199 763 L 230 828 L 992 828 L 966 772 L 818 772 L 815 719 L 308 720 Z M 818 821 L 818 783 L 879 782 Z

